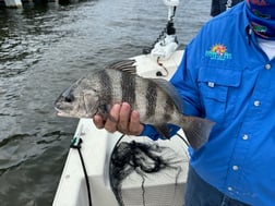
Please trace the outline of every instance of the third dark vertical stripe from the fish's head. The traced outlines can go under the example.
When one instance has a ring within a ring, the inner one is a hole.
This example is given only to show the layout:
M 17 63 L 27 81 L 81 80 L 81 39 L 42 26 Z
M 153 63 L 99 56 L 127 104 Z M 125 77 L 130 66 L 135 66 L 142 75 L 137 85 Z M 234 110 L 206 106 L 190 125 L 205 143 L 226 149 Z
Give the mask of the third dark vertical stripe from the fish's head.
M 147 93 L 146 93 L 147 106 L 146 106 L 146 117 L 155 114 L 156 102 L 157 102 L 157 85 L 154 82 L 148 82 Z

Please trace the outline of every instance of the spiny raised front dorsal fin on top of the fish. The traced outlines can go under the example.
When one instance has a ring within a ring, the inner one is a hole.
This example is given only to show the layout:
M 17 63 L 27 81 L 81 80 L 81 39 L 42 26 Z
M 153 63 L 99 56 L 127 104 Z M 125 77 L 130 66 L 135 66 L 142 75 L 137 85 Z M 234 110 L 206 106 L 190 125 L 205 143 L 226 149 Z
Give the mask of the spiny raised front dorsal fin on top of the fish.
M 135 60 L 133 59 L 127 59 L 127 60 L 120 60 L 116 61 L 113 63 L 110 63 L 107 65 L 106 69 L 112 69 L 118 70 L 121 72 L 128 72 L 130 74 L 136 74 L 136 66 L 134 65 Z

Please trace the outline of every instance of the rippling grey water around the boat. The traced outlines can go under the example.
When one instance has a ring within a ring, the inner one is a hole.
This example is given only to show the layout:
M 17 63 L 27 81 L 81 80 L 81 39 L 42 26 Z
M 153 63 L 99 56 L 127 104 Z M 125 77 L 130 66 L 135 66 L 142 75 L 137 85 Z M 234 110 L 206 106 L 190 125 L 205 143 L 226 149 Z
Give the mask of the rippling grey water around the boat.
M 210 19 L 208 0 L 182 0 L 186 45 Z M 91 0 L 0 9 L 0 205 L 49 206 L 76 120 L 53 101 L 95 68 L 142 52 L 166 25 L 162 0 Z

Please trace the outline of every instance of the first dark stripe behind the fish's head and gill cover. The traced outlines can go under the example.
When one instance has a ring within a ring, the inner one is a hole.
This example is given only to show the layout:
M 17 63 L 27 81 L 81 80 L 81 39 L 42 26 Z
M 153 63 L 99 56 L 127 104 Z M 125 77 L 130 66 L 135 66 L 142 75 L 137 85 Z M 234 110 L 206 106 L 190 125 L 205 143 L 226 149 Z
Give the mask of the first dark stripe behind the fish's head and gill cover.
M 99 83 L 103 88 L 103 95 L 100 97 L 101 105 L 108 105 L 109 102 L 112 102 L 112 86 L 111 86 L 111 77 L 109 76 L 108 72 L 106 70 L 103 70 L 98 72 L 98 78 Z

